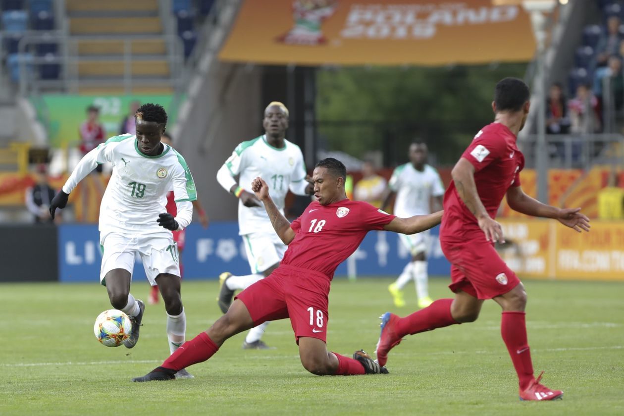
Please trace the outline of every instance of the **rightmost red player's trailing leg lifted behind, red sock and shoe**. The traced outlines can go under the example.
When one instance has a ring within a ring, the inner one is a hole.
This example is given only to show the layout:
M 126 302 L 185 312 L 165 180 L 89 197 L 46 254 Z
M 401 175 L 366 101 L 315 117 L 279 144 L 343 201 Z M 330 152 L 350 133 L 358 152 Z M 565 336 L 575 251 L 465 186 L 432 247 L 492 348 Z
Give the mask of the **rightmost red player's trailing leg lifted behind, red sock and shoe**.
M 455 294 L 455 299 L 438 299 L 426 308 L 403 318 L 386 312 L 381 316 L 381 334 L 376 349 L 379 364 L 386 364 L 388 352 L 399 345 L 404 336 L 476 321 L 482 304 L 482 300 L 459 291 Z

